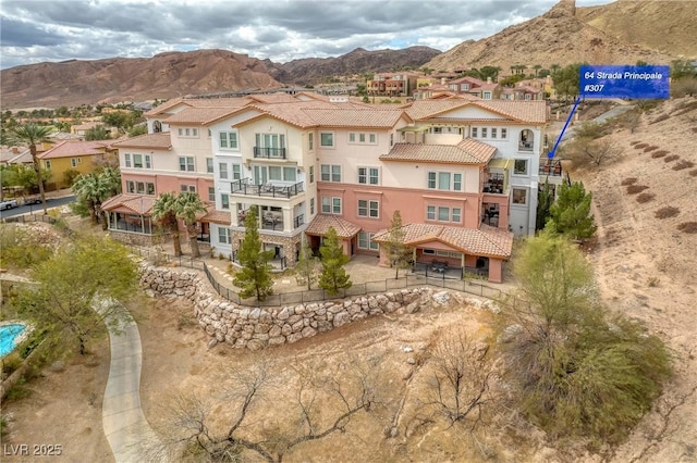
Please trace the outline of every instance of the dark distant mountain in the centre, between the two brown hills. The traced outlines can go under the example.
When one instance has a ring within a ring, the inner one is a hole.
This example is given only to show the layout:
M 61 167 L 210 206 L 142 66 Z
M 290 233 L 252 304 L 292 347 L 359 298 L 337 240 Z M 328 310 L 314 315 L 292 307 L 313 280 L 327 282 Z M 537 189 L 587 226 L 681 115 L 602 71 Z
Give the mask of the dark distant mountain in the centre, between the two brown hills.
M 420 67 L 439 55 L 429 47 L 409 47 L 402 50 L 374 50 L 357 48 L 338 58 L 306 58 L 283 64 L 267 62 L 269 73 L 286 84 L 319 84 L 328 77 L 364 73 L 381 73 L 404 67 Z

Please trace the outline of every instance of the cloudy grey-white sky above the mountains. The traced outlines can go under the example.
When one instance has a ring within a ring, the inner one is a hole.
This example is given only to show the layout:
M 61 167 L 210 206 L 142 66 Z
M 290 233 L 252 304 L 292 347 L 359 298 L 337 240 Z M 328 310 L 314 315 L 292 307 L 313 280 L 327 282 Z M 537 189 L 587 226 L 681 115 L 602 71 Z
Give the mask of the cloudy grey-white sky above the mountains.
M 220 48 L 284 63 L 367 50 L 440 51 L 557 0 L 0 0 L 2 68 Z M 611 0 L 576 0 L 577 7 Z

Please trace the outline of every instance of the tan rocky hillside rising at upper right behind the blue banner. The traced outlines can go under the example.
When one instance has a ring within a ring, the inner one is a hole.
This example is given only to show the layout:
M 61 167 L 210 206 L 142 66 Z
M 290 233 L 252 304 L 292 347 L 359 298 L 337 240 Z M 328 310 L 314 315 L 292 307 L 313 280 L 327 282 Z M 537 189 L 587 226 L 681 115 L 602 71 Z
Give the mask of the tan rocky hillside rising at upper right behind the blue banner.
M 541 16 L 508 27 L 489 38 L 465 41 L 436 57 L 426 66 L 453 71 L 494 65 L 508 71 L 518 64 L 549 67 L 576 62 L 633 64 L 639 60 L 658 64 L 677 58 L 681 54 L 677 50 L 683 47 L 692 47 L 693 52 L 697 52 L 694 35 L 697 18 L 693 2 L 639 0 L 619 3 L 595 7 L 586 13 L 585 9 L 576 9 L 574 0 L 562 0 Z M 661 9 L 659 3 L 664 9 L 656 14 Z M 674 39 L 681 47 L 673 48 L 668 41 L 665 46 L 657 47 L 670 35 L 667 32 L 673 29 L 678 30 Z

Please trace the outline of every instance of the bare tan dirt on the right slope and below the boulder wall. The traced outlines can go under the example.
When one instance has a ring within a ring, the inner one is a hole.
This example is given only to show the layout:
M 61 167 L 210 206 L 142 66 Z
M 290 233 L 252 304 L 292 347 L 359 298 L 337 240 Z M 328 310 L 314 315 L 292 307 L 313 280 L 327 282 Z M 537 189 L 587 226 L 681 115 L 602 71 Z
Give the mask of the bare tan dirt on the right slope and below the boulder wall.
M 697 164 L 697 112 L 676 114 L 676 108 L 688 101 L 695 99 L 670 101 L 652 110 L 633 134 L 627 129 L 612 134 L 622 154 L 599 168 L 573 173 L 574 179 L 583 179 L 594 192 L 599 228 L 588 259 L 596 268 L 604 301 L 612 310 L 646 322 L 661 336 L 673 352 L 676 371 L 655 410 L 609 459 L 614 463 L 697 461 L 697 234 L 678 229 L 683 223 L 697 222 L 697 168 L 676 168 L 687 161 Z M 668 114 L 668 118 L 653 122 L 661 114 Z M 636 148 L 637 142 L 656 148 L 647 151 L 646 147 Z M 661 150 L 669 153 L 656 157 Z M 670 155 L 680 158 L 668 161 Z M 637 200 L 638 195 L 629 193 L 627 185 L 622 185 L 632 177 L 636 185 L 648 187 L 643 192 L 653 196 Z M 677 212 L 658 218 L 657 211 L 667 207 L 676 208 Z M 375 367 L 393 378 L 392 401 L 386 405 L 386 410 L 393 411 L 415 368 L 414 354 L 406 353 L 405 347 L 418 352 L 440 330 L 455 324 L 465 324 L 472 333 L 485 336 L 489 316 L 486 311 L 454 303 L 416 314 L 358 321 L 266 353 L 271 354 L 272 367 L 281 376 L 303 360 L 338 365 L 350 362 L 353 355 L 372 359 Z M 196 390 L 216 397 L 227 371 L 249 365 L 259 358 L 259 353 L 224 345 L 207 349 L 207 336 L 193 320 L 191 308 L 181 303 L 156 301 L 136 310 L 136 317 L 144 348 L 143 406 L 160 433 L 167 431 L 166 410 L 174 393 Z M 3 443 L 61 443 L 65 449 L 62 461 L 112 459 L 101 431 L 99 406 L 109 370 L 108 347 L 96 347 L 95 351 L 100 353 L 89 362 L 69 362 L 62 370 L 45 371 L 29 385 L 30 396 L 3 405 L 3 415 L 11 417 L 10 435 Z M 270 401 L 264 406 L 280 405 Z M 403 413 L 406 416 L 408 410 Z M 442 427 L 415 430 L 409 438 L 400 434 L 388 439 L 383 429 L 368 420 L 356 424 L 362 429 L 359 436 L 346 433 L 322 445 L 303 445 L 285 461 L 468 462 L 482 459 L 482 445 L 497 450 L 494 461 L 570 461 L 564 452 L 546 447 L 543 439 L 523 452 L 513 447 L 514 442 L 475 441 Z M 408 427 L 406 423 L 400 425 Z M 3 455 L 2 461 L 32 460 Z M 575 461 L 603 460 L 586 455 Z

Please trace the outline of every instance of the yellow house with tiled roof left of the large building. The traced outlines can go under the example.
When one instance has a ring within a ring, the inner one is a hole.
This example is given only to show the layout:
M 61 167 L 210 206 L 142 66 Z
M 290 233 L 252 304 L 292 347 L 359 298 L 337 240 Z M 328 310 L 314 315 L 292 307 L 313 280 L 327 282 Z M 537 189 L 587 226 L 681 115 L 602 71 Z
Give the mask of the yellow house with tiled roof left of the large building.
M 109 140 L 64 140 L 38 154 L 42 167 L 51 172 L 47 186 L 70 188 L 80 174 L 89 174 L 100 165 L 115 163 Z

